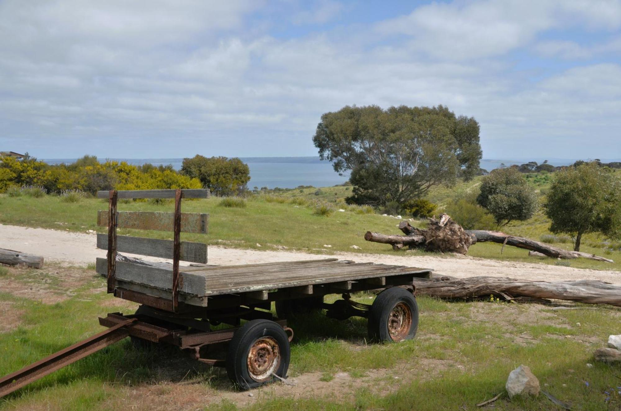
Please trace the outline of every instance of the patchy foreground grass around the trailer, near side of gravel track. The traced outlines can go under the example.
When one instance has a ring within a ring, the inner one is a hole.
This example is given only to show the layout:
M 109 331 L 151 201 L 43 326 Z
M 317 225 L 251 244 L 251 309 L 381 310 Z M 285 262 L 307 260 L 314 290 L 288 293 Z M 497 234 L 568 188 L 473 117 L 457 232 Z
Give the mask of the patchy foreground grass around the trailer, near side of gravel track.
M 136 307 L 106 294 L 103 279 L 86 268 L 7 268 L 0 289 L 0 375 L 101 331 L 98 315 Z M 355 298 L 373 300 L 371 294 Z M 0 409 L 476 409 L 504 390 L 507 374 L 520 364 L 575 409 L 621 407 L 621 368 L 592 359 L 610 333 L 621 333 L 621 309 L 418 302 L 419 333 L 404 343 L 366 344 L 365 322 L 357 318 L 291 321 L 296 338 L 289 375 L 297 386 L 273 384 L 253 391 L 254 398 L 235 392 L 222 369 L 176 350 L 136 351 L 123 340 L 0 400 Z M 494 409 L 555 406 L 540 395 L 501 397 Z

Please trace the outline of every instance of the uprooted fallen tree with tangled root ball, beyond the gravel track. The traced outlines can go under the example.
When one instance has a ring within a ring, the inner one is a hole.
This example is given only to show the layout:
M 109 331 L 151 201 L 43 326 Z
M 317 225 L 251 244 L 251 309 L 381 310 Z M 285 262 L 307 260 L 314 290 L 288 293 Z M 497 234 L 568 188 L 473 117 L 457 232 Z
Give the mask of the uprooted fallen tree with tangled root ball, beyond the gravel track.
M 392 244 L 393 248 L 395 248 L 395 244 L 402 243 L 404 245 L 410 245 L 410 248 L 424 246 L 428 251 L 454 252 L 461 254 L 466 254 L 466 252 L 468 252 L 468 248 L 473 244 L 494 242 L 502 244 L 503 246 L 510 245 L 518 248 L 524 248 L 525 250 L 535 251 L 552 258 L 589 258 L 591 260 L 614 263 L 613 260 L 594 254 L 564 250 L 563 248 L 556 248 L 546 243 L 531 240 L 530 238 L 516 237 L 514 235 L 498 231 L 463 230 L 463 228 L 461 228 L 459 224 L 456 224 L 448 216 L 448 214 L 442 214 L 439 220 L 429 219 L 429 227 L 427 230 L 412 227 L 407 221 L 402 221 L 399 224 L 399 229 L 406 235 L 383 235 L 379 233 L 372 233 L 373 235 L 371 236 L 365 235 L 365 240 L 375 241 L 374 238 L 381 238 L 383 241 L 378 242 Z M 407 240 L 407 238 L 410 237 L 417 238 L 420 236 L 425 237 L 424 243 L 414 240 L 409 242 Z M 466 238 L 466 236 L 469 238 Z M 398 250 L 399 248 L 395 249 Z

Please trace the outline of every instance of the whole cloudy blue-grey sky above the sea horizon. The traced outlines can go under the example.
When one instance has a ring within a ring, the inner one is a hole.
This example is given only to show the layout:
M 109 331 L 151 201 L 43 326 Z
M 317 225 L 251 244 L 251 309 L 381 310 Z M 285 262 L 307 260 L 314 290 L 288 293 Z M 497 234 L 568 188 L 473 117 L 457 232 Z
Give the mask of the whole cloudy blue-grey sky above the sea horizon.
M 445 104 L 484 158 L 620 158 L 621 0 L 0 0 L 2 150 L 309 156 L 348 104 Z

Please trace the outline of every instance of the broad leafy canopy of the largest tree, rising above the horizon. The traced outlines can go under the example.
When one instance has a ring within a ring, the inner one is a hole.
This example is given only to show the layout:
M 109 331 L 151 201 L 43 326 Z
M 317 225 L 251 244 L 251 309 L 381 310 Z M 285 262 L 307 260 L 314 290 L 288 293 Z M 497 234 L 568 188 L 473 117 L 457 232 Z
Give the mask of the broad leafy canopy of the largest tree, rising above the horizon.
M 403 204 L 430 187 L 479 171 L 479 124 L 444 106 L 346 106 L 321 116 L 313 137 L 322 160 L 351 171 L 355 204 Z

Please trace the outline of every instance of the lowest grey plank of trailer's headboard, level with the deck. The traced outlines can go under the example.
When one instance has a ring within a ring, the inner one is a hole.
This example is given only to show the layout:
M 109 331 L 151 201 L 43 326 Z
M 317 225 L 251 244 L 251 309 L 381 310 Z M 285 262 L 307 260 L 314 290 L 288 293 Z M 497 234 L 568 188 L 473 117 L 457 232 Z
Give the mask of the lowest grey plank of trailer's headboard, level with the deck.
M 97 258 L 96 270 L 101 274 L 104 267 L 107 270 L 106 258 Z M 207 295 L 207 281 L 204 276 L 197 276 L 193 273 L 179 273 L 179 291 L 195 296 Z M 163 290 L 171 290 L 173 287 L 173 269 L 155 268 L 150 265 L 116 262 L 116 278 L 119 281 L 134 282 L 148 287 L 155 287 Z

